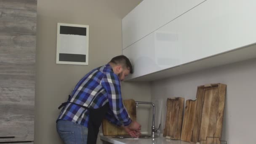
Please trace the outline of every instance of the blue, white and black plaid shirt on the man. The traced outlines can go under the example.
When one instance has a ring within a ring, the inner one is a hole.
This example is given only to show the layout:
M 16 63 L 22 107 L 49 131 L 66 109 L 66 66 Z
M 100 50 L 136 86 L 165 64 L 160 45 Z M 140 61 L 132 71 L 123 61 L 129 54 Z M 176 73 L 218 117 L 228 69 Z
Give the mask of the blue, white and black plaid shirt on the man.
M 121 126 L 131 123 L 121 97 L 121 83 L 112 67 L 106 64 L 93 69 L 85 75 L 73 89 L 69 102 L 83 105 L 88 108 L 100 108 L 109 102 L 106 119 Z M 90 115 L 88 110 L 76 104 L 68 103 L 57 120 L 69 120 L 88 127 Z M 93 114 L 97 115 L 97 114 Z

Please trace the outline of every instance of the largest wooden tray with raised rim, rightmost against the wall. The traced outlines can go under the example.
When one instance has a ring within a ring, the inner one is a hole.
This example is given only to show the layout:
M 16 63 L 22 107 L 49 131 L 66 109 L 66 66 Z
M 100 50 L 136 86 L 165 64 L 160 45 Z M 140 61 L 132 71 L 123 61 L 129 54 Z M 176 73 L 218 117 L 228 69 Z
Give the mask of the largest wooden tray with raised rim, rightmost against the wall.
M 221 139 L 226 85 L 209 84 L 197 87 L 197 107 L 191 142 L 200 142 L 207 137 Z

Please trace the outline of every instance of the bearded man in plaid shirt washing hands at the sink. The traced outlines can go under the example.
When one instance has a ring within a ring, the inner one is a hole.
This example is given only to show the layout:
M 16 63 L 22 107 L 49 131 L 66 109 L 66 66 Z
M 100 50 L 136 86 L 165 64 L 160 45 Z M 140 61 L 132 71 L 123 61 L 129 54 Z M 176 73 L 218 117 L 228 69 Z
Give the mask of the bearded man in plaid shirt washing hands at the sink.
M 139 136 L 141 125 L 132 121 L 123 106 L 121 83 L 133 73 L 129 59 L 116 56 L 86 74 L 69 95 L 56 122 L 65 144 L 96 144 L 102 119 L 118 125 L 131 136 Z

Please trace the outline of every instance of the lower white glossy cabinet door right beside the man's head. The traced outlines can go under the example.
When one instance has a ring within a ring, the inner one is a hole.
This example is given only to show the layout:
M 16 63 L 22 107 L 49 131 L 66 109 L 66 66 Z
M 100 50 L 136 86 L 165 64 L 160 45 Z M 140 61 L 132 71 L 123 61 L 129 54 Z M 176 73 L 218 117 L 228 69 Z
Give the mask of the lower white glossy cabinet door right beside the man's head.
M 134 67 L 134 73 L 127 79 L 179 64 L 176 24 L 177 21 L 174 20 L 123 50 L 123 54 L 131 59 Z

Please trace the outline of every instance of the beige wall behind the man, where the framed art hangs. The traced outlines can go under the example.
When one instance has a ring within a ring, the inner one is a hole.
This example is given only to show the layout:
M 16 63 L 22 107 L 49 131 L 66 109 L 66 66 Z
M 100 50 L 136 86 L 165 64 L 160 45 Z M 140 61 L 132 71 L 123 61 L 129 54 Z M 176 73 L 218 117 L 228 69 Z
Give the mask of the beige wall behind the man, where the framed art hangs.
M 141 0 L 37 0 L 35 144 L 61 144 L 57 107 L 78 80 L 122 53 L 121 19 Z M 89 25 L 89 65 L 56 64 L 57 22 Z M 150 100 L 149 83 L 122 83 L 124 98 Z M 140 109 L 138 120 L 148 116 Z M 141 120 L 142 121 L 142 120 Z M 148 119 L 143 119 L 147 131 Z

